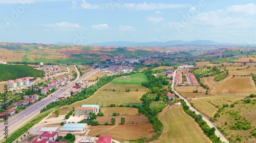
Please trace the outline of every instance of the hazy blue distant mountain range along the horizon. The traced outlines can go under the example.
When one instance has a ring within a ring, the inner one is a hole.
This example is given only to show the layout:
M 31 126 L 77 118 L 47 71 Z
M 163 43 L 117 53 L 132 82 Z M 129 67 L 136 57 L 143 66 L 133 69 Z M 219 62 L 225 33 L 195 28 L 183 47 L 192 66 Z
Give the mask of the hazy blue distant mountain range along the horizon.
M 74 43 L 55 43 L 57 45 L 76 45 Z M 196 41 L 182 41 L 182 40 L 172 40 L 167 42 L 130 42 L 130 41 L 113 41 L 113 42 L 103 42 L 103 43 L 91 43 L 86 44 L 88 46 L 182 46 L 182 45 L 197 45 L 197 46 L 243 46 L 245 44 L 232 44 L 232 43 L 218 43 L 210 40 L 196 40 Z

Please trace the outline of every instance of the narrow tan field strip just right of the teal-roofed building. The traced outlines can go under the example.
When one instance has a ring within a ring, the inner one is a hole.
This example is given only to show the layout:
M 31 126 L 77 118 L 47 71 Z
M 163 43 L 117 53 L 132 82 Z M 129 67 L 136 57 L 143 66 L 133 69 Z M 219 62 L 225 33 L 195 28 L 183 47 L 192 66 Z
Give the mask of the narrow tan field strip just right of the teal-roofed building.
M 131 107 L 104 107 L 101 111 L 104 113 L 104 116 L 112 116 L 113 112 L 119 113 L 119 116 L 139 114 L 138 108 Z

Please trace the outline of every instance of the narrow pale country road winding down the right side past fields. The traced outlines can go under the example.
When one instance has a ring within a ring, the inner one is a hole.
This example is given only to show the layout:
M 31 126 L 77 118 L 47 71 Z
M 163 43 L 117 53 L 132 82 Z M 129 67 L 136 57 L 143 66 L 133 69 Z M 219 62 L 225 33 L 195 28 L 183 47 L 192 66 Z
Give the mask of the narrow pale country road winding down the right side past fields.
M 176 71 L 177 71 L 177 70 L 174 71 L 174 75 L 173 75 L 172 90 L 174 91 L 175 94 L 177 94 L 181 99 L 183 99 L 183 100 L 186 102 L 186 104 L 189 106 L 189 109 L 190 109 L 190 110 L 195 111 L 196 114 L 199 115 L 200 112 L 198 112 L 195 108 L 193 108 L 193 107 L 190 105 L 190 103 L 189 103 L 183 96 L 181 96 L 179 93 L 177 93 L 177 92 L 174 90 Z M 202 119 L 203 119 L 211 128 L 214 127 L 214 128 L 216 129 L 215 134 L 216 134 L 218 137 L 220 137 L 220 140 L 221 140 L 221 141 L 226 142 L 226 143 L 229 142 L 229 141 L 220 133 L 220 131 L 219 131 L 209 120 L 207 120 L 204 116 L 202 117 Z

